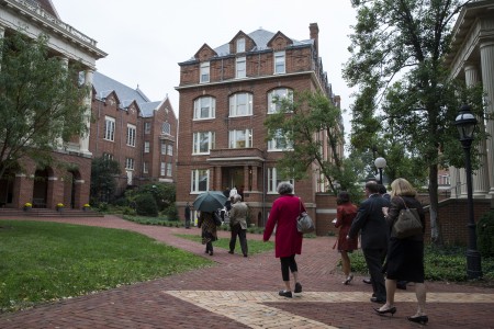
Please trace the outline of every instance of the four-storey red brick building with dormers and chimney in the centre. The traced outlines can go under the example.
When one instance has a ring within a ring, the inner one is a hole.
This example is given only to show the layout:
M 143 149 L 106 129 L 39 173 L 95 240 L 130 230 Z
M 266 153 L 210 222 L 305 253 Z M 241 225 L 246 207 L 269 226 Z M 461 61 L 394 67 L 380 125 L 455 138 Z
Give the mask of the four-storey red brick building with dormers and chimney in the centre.
M 278 183 L 290 180 L 277 172 L 277 160 L 288 150 L 287 139 L 265 140 L 263 122 L 277 111 L 272 100 L 294 91 L 321 91 L 339 106 L 318 57 L 317 24 L 310 25 L 305 41 L 281 32 L 239 31 L 217 48 L 204 44 L 179 66 L 179 212 L 204 191 L 236 186 L 244 189 L 250 223 L 262 226 L 278 197 Z M 326 140 L 324 136 L 314 138 Z M 339 150 L 343 154 L 343 145 Z M 325 155 L 329 157 L 328 151 Z M 317 168 L 314 164 L 308 170 Z M 326 190 L 321 177 L 311 174 L 292 183 L 315 217 L 315 195 Z

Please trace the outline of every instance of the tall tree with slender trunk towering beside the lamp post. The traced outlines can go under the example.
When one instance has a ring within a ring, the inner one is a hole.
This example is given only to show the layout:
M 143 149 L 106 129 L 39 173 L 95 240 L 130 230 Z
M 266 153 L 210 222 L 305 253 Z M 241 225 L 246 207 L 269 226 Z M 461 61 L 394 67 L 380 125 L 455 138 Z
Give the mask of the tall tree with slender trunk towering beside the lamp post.
M 349 84 L 359 86 L 352 106 L 352 141 L 361 140 L 356 146 L 368 149 L 367 143 L 392 135 L 415 173 L 419 174 L 417 168 L 427 169 L 431 238 L 438 245 L 442 242 L 438 168 L 463 167 L 452 126 L 460 102 L 468 99 L 483 117 L 478 93 L 448 80 L 444 66 L 453 19 L 468 2 L 352 1 L 358 22 L 350 36 L 351 57 L 344 68 Z

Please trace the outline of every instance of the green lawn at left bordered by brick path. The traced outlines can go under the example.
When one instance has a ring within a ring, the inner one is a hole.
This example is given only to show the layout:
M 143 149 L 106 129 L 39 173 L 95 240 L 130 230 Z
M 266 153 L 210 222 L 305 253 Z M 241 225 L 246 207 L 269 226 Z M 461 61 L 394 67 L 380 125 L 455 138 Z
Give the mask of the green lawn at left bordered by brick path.
M 0 313 L 143 282 L 212 262 L 137 232 L 0 222 Z

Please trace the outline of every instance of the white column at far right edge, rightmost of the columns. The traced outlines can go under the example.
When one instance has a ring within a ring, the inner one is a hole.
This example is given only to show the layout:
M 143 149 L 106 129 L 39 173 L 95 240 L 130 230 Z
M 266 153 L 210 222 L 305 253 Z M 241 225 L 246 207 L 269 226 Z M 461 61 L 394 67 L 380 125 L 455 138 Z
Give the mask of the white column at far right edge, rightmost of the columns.
M 494 115 L 494 39 L 485 41 L 480 44 L 481 64 L 482 64 L 482 83 L 486 94 L 486 113 Z M 494 120 L 486 122 L 486 131 L 490 135 L 487 143 L 487 163 L 489 168 L 494 168 Z M 494 172 L 489 177 L 489 195 L 494 197 Z

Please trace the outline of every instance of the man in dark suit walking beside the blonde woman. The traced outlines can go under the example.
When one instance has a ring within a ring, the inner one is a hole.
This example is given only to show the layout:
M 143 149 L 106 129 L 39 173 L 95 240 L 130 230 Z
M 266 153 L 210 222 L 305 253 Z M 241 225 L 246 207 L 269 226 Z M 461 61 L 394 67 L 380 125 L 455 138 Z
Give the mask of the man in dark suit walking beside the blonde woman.
M 363 258 L 369 269 L 373 291 L 370 300 L 384 304 L 386 291 L 382 264 L 388 251 L 389 229 L 382 208 L 388 207 L 390 203 L 379 195 L 379 186 L 374 182 L 366 183 L 366 196 L 367 200 L 361 203 L 347 239 L 357 239 L 361 231 Z

